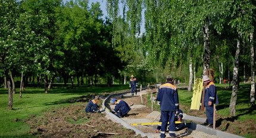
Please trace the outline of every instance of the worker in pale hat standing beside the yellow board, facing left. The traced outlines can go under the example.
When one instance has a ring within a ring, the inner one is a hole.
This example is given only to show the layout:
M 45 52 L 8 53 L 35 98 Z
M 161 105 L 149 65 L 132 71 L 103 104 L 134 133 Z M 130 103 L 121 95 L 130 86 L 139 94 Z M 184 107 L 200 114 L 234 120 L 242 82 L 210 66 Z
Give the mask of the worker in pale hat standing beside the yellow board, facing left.
M 209 127 L 213 127 L 213 105 L 218 104 L 218 96 L 215 84 L 213 81 L 209 79 L 208 76 L 203 76 L 202 80 L 204 81 L 205 94 L 204 94 L 204 106 L 205 106 L 205 113 L 207 116 L 207 120 L 205 121 L 204 125 L 208 125 Z

